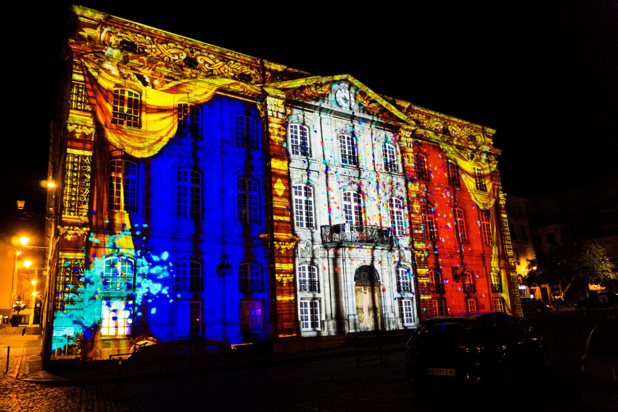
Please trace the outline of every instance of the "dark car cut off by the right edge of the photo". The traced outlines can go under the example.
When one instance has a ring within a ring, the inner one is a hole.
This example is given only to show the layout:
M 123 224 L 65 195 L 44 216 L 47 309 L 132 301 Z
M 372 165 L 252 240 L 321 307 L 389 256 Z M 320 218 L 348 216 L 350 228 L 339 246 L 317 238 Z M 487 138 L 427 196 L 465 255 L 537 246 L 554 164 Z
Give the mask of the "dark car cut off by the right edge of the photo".
M 618 385 L 618 317 L 603 321 L 590 332 L 582 356 L 585 381 Z

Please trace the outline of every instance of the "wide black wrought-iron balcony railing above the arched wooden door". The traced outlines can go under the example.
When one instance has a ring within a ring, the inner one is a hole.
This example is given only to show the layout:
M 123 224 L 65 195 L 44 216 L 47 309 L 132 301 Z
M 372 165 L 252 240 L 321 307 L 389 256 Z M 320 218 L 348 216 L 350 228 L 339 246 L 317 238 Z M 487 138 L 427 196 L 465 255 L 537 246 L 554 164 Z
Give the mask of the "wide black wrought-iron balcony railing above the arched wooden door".
M 388 227 L 371 225 L 323 225 L 322 243 L 369 243 L 372 245 L 392 245 L 392 232 Z

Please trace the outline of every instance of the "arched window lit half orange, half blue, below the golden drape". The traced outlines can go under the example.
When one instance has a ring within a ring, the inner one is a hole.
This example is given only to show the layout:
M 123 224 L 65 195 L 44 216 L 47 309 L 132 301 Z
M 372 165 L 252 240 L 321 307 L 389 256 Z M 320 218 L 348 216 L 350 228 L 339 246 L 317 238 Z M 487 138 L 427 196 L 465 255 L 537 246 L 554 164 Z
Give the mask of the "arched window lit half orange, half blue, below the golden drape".
M 137 212 L 137 163 L 125 159 L 109 162 L 108 210 Z

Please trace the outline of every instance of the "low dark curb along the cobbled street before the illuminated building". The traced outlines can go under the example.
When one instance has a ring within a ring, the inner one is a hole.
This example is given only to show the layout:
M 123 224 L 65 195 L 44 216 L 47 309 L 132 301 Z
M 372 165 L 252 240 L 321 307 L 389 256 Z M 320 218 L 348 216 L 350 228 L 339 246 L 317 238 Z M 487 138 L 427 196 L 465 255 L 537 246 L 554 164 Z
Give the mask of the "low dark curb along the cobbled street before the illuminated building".
M 404 351 L 404 347 L 400 347 L 400 348 L 397 347 L 397 348 L 383 349 L 382 353 L 388 354 L 388 353 L 396 353 L 396 352 L 402 352 L 402 351 Z M 360 356 L 378 355 L 378 353 L 379 353 L 378 350 L 365 350 L 365 351 L 359 352 L 358 355 Z M 267 361 L 266 367 L 264 366 L 263 362 L 253 362 L 253 363 L 237 365 L 236 369 L 237 370 L 261 369 L 261 368 L 268 369 L 272 366 L 307 363 L 307 362 L 312 362 L 312 361 L 323 361 L 323 360 L 338 359 L 338 358 L 349 358 L 349 357 L 353 357 L 356 355 L 357 355 L 356 351 L 353 350 L 353 351 L 345 351 L 341 353 L 327 353 L 323 355 L 299 356 L 299 357 L 289 358 L 289 359 L 273 359 L 273 360 Z M 193 369 L 192 374 L 193 376 L 196 376 L 196 375 L 204 375 L 204 374 L 215 373 L 215 372 L 231 372 L 231 371 L 234 371 L 234 365 L 227 364 L 227 365 L 219 365 L 219 366 L 211 366 L 211 367 L 206 367 L 206 368 Z M 186 376 L 186 375 L 187 375 L 186 372 L 179 371 L 179 372 L 172 373 L 172 374 L 168 373 L 166 374 L 166 377 Z M 157 379 L 159 376 L 160 375 L 158 372 L 155 372 L 155 373 L 148 372 L 146 374 L 138 374 L 135 376 L 123 377 L 122 382 L 129 382 L 133 380 Z M 117 384 L 119 382 L 117 377 L 106 377 L 106 378 L 100 378 L 100 379 L 80 379 L 80 380 L 67 379 L 64 377 L 59 377 L 59 379 L 35 379 L 35 378 L 28 378 L 28 377 L 23 377 L 23 378 L 16 377 L 16 379 L 22 380 L 22 382 L 30 382 L 33 384 L 48 385 L 48 386 L 54 386 L 54 387 L 90 386 L 90 385 L 112 384 L 112 383 Z

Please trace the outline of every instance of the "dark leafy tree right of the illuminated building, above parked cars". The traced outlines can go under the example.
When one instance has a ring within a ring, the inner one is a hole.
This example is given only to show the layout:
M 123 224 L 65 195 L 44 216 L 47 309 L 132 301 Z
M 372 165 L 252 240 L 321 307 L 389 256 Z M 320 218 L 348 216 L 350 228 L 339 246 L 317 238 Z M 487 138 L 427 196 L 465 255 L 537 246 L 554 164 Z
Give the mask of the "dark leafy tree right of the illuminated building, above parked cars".
M 528 286 L 569 285 L 572 282 L 604 285 L 617 279 L 605 248 L 596 243 L 578 243 L 539 254 L 528 264 L 524 281 Z

